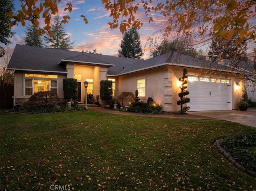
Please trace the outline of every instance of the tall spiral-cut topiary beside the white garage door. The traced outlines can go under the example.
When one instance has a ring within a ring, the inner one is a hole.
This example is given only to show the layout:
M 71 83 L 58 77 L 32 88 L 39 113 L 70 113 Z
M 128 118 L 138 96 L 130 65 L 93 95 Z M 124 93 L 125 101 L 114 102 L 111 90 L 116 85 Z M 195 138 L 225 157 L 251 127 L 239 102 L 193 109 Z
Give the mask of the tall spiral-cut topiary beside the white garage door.
M 184 68 L 183 76 L 182 76 L 182 84 L 180 87 L 181 93 L 178 94 L 180 97 L 180 100 L 177 101 L 177 104 L 180 105 L 180 110 L 179 110 L 180 114 L 184 114 L 190 109 L 190 107 L 188 106 L 183 107 L 184 104 L 190 102 L 190 98 L 186 97 L 186 95 L 189 94 L 189 91 L 186 90 L 188 88 L 186 86 L 186 84 L 188 83 L 187 78 L 188 78 L 188 71 L 186 68 Z

